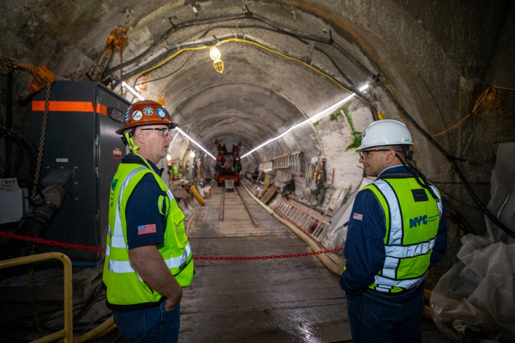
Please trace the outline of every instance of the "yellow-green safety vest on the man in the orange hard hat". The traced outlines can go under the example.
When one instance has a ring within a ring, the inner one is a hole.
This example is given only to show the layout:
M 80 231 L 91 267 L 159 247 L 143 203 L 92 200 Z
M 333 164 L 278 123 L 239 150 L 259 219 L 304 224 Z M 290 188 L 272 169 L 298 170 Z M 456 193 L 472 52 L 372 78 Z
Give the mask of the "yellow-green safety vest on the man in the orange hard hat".
M 162 209 L 166 207 L 166 230 L 164 243 L 158 245 L 158 251 L 170 269 L 170 272 L 183 287 L 191 284 L 193 279 L 193 254 L 184 230 L 184 214 L 174 196 L 163 180 L 151 169 L 136 163 L 122 163 L 111 183 L 109 200 L 109 229 L 107 233 L 106 261 L 102 280 L 107 286 L 109 304 L 153 306 L 163 297 L 143 281 L 134 270 L 129 260 L 127 246 L 127 223 L 125 211 L 127 201 L 141 179 L 152 174 L 161 190 L 166 194 L 157 201 Z

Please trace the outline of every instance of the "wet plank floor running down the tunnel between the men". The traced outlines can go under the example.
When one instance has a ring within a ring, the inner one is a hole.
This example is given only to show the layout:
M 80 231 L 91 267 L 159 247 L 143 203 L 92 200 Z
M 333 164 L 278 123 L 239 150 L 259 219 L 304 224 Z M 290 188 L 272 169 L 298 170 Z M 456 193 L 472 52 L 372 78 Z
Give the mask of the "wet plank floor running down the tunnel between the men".
M 236 192 L 214 186 L 192 221 L 195 256 L 267 256 L 310 252 L 244 190 L 255 228 Z M 348 342 L 345 293 L 338 276 L 315 256 L 266 260 L 195 261 L 181 301 L 181 342 Z

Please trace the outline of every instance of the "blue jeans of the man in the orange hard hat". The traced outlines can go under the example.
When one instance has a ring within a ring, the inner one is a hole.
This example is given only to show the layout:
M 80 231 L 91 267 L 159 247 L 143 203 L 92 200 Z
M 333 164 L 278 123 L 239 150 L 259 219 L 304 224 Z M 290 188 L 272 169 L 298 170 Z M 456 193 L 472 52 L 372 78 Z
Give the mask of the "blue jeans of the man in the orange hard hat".
M 113 312 L 114 322 L 124 341 L 177 343 L 180 308 L 177 306 L 165 311 L 164 303 L 162 301 L 159 306 L 142 310 Z

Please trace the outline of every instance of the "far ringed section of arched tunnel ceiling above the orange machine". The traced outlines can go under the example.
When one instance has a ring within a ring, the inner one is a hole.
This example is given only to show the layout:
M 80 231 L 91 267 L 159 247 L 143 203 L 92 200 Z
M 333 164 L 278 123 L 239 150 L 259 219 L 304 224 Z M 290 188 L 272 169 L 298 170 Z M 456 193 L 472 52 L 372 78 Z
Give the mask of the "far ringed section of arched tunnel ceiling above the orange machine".
M 274 137 L 284 123 L 301 117 L 287 99 L 249 83 L 214 85 L 192 94 L 176 110 L 188 123 L 182 129 L 186 127 L 199 141 L 241 141 L 245 150 L 254 142 Z

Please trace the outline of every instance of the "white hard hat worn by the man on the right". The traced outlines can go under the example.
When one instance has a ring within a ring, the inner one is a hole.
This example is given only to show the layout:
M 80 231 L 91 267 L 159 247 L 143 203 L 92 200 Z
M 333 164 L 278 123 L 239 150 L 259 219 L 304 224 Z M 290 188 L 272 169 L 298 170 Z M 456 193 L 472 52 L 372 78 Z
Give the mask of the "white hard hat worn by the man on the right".
M 382 121 L 370 123 L 365 132 L 363 132 L 361 145 L 356 151 L 373 146 L 403 144 L 415 144 L 413 143 L 413 139 L 411 139 L 411 133 L 409 133 L 406 125 L 392 119 L 383 119 Z

